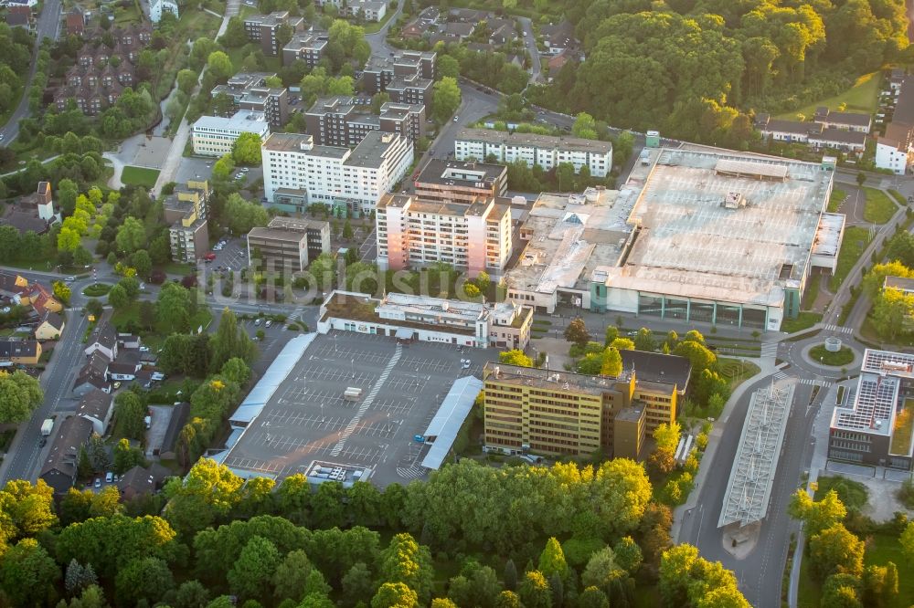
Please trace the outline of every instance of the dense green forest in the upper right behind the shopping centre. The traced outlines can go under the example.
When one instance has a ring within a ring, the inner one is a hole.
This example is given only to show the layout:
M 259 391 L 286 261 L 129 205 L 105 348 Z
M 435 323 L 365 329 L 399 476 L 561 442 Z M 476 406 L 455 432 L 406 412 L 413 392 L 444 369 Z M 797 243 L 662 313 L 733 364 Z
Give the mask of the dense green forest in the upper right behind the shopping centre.
M 540 102 L 638 131 L 739 146 L 795 109 L 908 63 L 904 0 L 567 0 L 586 60 Z

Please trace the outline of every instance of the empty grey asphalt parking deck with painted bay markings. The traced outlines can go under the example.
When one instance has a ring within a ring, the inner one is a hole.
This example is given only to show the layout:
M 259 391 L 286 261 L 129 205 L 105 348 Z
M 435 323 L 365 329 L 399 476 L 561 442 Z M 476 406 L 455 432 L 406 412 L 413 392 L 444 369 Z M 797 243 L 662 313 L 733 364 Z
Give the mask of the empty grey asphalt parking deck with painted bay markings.
M 424 433 L 454 380 L 480 377 L 496 351 L 459 349 L 334 331 L 319 335 L 225 464 L 278 478 L 305 472 L 315 460 L 367 468 L 378 487 L 425 477 Z M 471 365 L 463 369 L 461 360 Z M 347 387 L 362 389 L 346 401 Z

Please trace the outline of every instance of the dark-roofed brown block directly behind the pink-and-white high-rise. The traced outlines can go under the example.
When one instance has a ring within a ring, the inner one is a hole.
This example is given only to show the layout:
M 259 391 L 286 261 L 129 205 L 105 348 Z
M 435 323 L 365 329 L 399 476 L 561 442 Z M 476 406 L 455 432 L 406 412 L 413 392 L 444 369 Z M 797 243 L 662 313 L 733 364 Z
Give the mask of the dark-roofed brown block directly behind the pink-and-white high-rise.
M 503 164 L 431 159 L 416 178 L 416 196 L 427 201 L 471 203 L 477 197 L 505 196 L 507 168 Z

